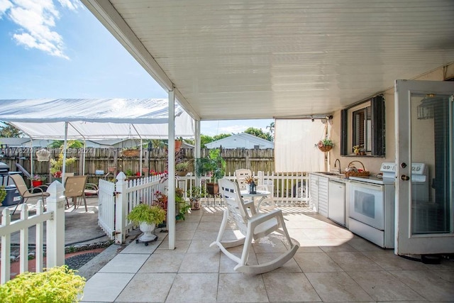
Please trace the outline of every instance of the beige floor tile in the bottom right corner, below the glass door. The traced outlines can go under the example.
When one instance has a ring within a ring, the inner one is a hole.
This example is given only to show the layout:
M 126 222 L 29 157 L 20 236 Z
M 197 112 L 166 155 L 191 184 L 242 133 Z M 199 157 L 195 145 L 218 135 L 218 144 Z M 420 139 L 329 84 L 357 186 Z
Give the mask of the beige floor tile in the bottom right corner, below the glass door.
M 390 273 L 428 301 L 454 302 L 453 271 L 393 270 Z

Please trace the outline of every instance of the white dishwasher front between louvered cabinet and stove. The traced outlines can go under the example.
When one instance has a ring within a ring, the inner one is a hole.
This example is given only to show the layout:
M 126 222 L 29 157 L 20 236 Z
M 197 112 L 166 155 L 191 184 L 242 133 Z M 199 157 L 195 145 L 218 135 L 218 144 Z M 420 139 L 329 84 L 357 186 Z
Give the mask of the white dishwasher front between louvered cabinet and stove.
M 328 218 L 345 226 L 345 183 L 329 180 Z

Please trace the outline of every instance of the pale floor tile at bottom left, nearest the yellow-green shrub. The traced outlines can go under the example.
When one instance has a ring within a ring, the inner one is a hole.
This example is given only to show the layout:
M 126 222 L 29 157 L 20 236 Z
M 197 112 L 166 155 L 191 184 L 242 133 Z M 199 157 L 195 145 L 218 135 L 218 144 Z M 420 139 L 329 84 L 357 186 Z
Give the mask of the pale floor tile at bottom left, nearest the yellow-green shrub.
M 97 272 L 85 284 L 82 302 L 114 302 L 133 277 L 132 273 Z

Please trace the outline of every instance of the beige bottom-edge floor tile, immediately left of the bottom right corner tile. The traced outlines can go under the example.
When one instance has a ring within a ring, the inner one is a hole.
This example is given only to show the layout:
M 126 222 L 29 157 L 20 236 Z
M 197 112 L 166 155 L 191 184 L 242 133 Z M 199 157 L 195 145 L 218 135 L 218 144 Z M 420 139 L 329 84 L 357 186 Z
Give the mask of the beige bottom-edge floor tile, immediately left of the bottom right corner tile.
M 377 301 L 414 301 L 423 300 L 403 282 L 385 271 L 348 272 L 348 275 Z

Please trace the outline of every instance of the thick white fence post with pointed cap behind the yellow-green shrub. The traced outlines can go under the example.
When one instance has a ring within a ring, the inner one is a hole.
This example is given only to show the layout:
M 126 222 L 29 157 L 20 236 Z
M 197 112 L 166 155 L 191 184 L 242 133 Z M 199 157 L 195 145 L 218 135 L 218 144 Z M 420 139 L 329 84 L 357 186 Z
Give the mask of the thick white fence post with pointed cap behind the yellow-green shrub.
M 46 206 L 54 216 L 46 223 L 46 266 L 53 268 L 65 265 L 65 187 L 54 181 L 47 192 L 50 197 L 45 200 Z

